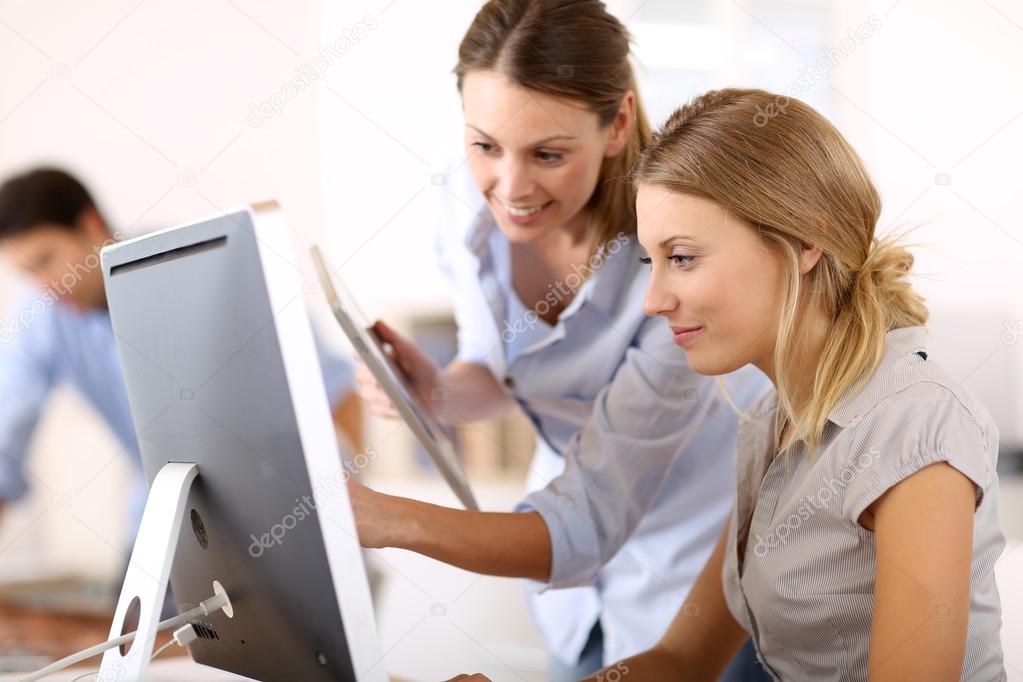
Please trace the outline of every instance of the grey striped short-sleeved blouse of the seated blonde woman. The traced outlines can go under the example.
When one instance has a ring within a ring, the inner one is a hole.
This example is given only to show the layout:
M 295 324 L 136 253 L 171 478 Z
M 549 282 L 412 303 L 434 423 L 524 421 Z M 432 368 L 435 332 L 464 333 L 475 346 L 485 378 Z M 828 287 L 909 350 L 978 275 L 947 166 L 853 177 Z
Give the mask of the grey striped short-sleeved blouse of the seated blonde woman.
M 1006 679 L 994 582 L 1005 547 L 997 429 L 983 405 L 927 359 L 925 338 L 923 327 L 888 333 L 880 367 L 840 401 L 812 457 L 801 443 L 773 456 L 775 392 L 743 418 L 724 595 L 775 679 L 866 680 L 875 546 L 857 519 L 885 491 L 941 461 L 977 488 L 962 679 Z

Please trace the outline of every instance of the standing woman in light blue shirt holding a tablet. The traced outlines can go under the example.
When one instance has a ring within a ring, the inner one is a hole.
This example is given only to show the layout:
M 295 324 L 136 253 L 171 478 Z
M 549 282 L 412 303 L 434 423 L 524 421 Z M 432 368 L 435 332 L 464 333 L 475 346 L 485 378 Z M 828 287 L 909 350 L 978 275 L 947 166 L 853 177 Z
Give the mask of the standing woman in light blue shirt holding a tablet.
M 458 355 L 441 369 L 377 332 L 443 421 L 529 416 L 534 492 L 481 513 L 353 484 L 353 507 L 364 546 L 532 579 L 551 679 L 577 679 L 652 645 L 682 603 L 732 506 L 738 415 L 642 312 L 628 174 L 650 127 L 622 24 L 596 0 L 493 0 L 455 73 L 486 201 L 442 237 Z M 740 408 L 766 389 L 750 370 L 727 381 Z M 755 661 L 737 665 L 730 679 L 758 679 Z

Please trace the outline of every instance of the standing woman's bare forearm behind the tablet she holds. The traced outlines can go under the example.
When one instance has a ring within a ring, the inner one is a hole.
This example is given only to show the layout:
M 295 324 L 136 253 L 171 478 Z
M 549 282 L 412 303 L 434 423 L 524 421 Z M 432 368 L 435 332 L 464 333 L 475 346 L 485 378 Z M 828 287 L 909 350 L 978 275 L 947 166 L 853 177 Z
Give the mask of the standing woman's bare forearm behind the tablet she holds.
M 514 405 L 487 367 L 455 360 L 440 372 L 440 392 L 431 396 L 441 421 L 459 424 L 495 419 Z

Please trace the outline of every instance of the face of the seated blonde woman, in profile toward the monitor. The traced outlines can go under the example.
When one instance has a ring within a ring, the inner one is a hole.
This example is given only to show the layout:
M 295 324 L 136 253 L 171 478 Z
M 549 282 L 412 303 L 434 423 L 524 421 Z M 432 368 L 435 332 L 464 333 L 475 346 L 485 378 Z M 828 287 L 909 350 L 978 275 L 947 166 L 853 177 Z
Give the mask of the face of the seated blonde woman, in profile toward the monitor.
M 643 310 L 668 321 L 690 366 L 720 375 L 754 364 L 772 376 L 782 256 L 709 199 L 640 185 L 636 214 L 652 268 Z

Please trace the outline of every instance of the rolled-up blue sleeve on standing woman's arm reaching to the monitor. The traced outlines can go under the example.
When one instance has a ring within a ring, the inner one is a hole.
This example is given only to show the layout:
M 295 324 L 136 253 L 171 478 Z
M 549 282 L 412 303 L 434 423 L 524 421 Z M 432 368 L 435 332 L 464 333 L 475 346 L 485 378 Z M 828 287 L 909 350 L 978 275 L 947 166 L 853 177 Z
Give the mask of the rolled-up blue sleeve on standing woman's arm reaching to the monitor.
M 686 441 L 708 421 L 738 416 L 712 377 L 694 372 L 664 322 L 649 320 L 593 412 L 565 450 L 565 470 L 525 498 L 550 533 L 548 588 L 591 584 L 625 544 L 661 489 Z M 728 451 L 733 456 L 733 440 Z

